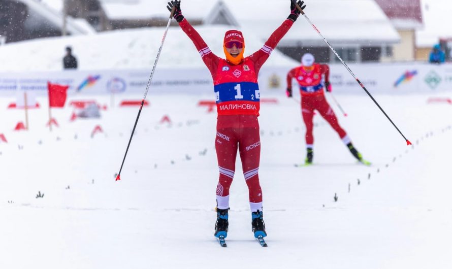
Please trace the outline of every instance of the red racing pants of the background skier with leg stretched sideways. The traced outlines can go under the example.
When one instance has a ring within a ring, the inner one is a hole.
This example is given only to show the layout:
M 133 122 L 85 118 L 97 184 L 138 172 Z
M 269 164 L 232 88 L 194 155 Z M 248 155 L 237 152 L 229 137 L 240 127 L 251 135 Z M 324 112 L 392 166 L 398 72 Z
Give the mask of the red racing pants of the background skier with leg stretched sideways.
M 314 144 L 314 137 L 312 135 L 314 117 L 314 110 L 317 110 L 320 115 L 333 127 L 338 133 L 339 137 L 346 143 L 348 140 L 347 133 L 339 125 L 339 122 L 334 114 L 333 109 L 327 103 L 324 94 L 315 95 L 303 95 L 301 98 L 301 111 L 303 115 L 303 121 L 306 125 L 306 147 L 312 148 Z

